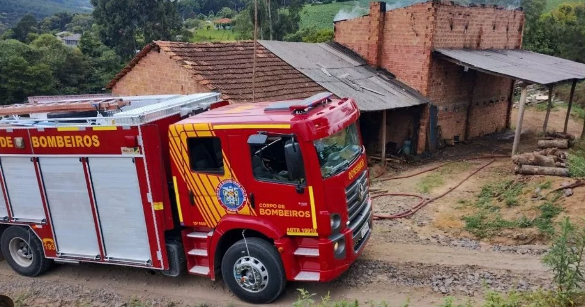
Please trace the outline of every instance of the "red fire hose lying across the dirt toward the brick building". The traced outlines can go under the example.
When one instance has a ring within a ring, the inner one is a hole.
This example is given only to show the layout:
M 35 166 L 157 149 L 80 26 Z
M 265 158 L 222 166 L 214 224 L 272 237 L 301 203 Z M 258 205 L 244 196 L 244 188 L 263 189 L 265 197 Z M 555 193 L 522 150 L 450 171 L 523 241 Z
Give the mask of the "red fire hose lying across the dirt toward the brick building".
M 406 194 L 406 193 L 386 193 L 385 191 L 378 191 L 378 193 L 382 193 L 382 194 L 376 194 L 371 196 L 372 199 L 374 198 L 378 198 L 381 196 L 407 196 L 407 197 L 415 197 L 415 198 L 419 198 L 421 199 L 421 201 L 419 203 L 417 203 L 417 205 L 415 205 L 414 207 L 406 210 L 406 211 L 402 211 L 399 213 L 394 213 L 393 215 L 379 215 L 379 214 L 374 214 L 374 219 L 400 219 L 400 218 L 406 218 L 407 216 L 411 216 L 413 215 L 415 212 L 419 211 L 421 208 L 423 208 L 424 206 L 428 205 L 429 203 L 436 201 L 439 198 L 442 198 L 443 196 L 449 194 L 451 191 L 453 191 L 454 189 L 458 188 L 460 185 L 463 184 L 463 182 L 467 181 L 469 178 L 471 178 L 473 175 L 477 174 L 479 171 L 483 170 L 484 168 L 486 168 L 488 165 L 494 163 L 495 158 L 510 158 L 510 156 L 505 156 L 505 155 L 491 155 L 491 156 L 481 156 L 481 157 L 474 157 L 474 158 L 468 158 L 468 159 L 464 159 L 464 160 L 459 160 L 459 161 L 466 161 L 466 160 L 479 160 L 479 159 L 486 159 L 486 158 L 491 158 L 492 160 L 489 161 L 486 164 L 481 165 L 481 167 L 476 168 L 476 170 L 474 170 L 471 174 L 467 175 L 467 177 L 463 178 L 462 181 L 459 181 L 459 183 L 457 183 L 455 185 L 455 187 L 449 188 L 446 192 L 444 192 L 443 194 L 439 195 L 439 196 L 435 196 L 433 198 L 428 198 L 425 199 L 423 196 L 421 195 L 416 195 L 416 194 Z M 404 178 L 410 178 L 410 177 L 414 177 L 420 174 L 424 174 L 424 173 L 428 173 L 429 171 L 434 171 L 438 168 L 444 167 L 445 165 L 449 165 L 452 163 L 456 163 L 459 161 L 451 161 L 448 163 L 444 163 L 441 165 L 438 165 L 436 167 L 432 167 L 429 168 L 427 170 L 424 171 L 419 171 L 418 173 L 415 174 L 410 174 L 410 175 L 400 175 L 400 176 L 395 176 L 395 177 L 388 177 L 388 178 L 381 178 L 380 181 L 388 181 L 388 180 L 396 180 L 396 179 L 404 179 Z

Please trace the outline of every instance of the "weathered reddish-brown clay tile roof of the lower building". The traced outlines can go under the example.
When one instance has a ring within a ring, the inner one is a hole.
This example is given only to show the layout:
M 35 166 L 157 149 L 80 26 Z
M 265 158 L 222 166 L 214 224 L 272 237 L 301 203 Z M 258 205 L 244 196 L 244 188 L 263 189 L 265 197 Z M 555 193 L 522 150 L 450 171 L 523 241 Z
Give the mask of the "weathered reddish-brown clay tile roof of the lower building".
M 229 43 L 181 43 L 156 41 L 146 47 L 109 82 L 111 89 L 151 50 L 160 50 L 189 70 L 194 80 L 221 92 L 232 102 L 252 101 L 252 41 Z M 325 88 L 275 56 L 261 44 L 256 46 L 255 100 L 302 99 Z

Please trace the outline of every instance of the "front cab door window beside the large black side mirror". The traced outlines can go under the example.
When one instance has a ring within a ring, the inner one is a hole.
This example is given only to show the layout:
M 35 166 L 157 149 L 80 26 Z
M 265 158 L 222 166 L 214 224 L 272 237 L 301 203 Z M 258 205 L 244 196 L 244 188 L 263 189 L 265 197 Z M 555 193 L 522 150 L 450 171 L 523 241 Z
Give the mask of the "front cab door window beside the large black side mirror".
M 250 145 L 252 156 L 252 173 L 254 178 L 261 181 L 282 182 L 285 184 L 304 183 L 305 178 L 292 180 L 284 156 L 284 145 L 290 141 L 290 136 L 271 136 L 266 143 Z

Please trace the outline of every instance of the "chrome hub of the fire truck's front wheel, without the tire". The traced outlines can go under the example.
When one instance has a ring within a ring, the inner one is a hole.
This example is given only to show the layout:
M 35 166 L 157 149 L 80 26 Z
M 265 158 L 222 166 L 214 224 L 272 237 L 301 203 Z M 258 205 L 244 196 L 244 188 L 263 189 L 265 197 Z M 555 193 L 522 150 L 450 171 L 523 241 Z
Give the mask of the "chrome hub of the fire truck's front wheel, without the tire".
M 268 284 L 268 271 L 257 258 L 240 257 L 233 265 L 233 276 L 246 291 L 260 292 Z

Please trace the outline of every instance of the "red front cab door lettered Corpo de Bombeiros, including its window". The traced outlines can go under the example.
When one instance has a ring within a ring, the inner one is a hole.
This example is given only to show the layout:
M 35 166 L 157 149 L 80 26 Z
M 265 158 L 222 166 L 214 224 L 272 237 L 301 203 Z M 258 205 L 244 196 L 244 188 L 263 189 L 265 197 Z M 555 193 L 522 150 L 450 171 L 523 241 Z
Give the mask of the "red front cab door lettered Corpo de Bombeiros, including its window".
M 248 144 L 249 136 L 257 133 L 245 130 L 229 137 L 233 176 L 245 187 L 253 214 L 269 218 L 289 235 L 316 236 L 310 182 L 306 176 L 291 180 L 285 161 L 284 146 L 292 137 L 268 133 L 266 143 Z

